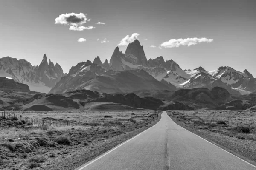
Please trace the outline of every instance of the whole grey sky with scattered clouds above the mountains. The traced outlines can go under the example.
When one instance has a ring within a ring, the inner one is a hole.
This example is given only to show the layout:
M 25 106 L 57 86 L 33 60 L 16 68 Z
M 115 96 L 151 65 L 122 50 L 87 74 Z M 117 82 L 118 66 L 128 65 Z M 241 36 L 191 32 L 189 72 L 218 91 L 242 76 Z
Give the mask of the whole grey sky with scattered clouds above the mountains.
M 256 0 L 0 0 L 0 4 L 0 57 L 39 65 L 46 54 L 68 73 L 78 62 L 93 62 L 96 56 L 109 61 L 117 45 L 125 52 L 127 43 L 137 38 L 148 59 L 163 56 L 182 69 L 230 66 L 256 77 Z

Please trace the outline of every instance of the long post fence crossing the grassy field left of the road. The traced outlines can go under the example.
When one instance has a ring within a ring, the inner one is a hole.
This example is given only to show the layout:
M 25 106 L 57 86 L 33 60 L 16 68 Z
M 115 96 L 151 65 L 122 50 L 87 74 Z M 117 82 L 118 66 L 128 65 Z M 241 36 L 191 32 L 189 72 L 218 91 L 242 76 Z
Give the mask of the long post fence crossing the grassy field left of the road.
M 0 113 L 1 115 L 1 113 Z M 20 121 L 25 121 L 27 123 L 31 123 L 31 125 L 37 125 L 37 126 L 43 126 L 43 125 L 47 125 L 47 126 L 86 126 L 86 125 L 102 125 L 105 123 L 118 123 L 121 121 L 121 119 L 114 119 L 114 120 L 100 120 L 100 119 L 94 119 L 93 122 L 86 122 L 86 123 L 82 123 L 82 122 L 73 122 L 70 120 L 57 120 L 57 119 L 46 119 L 46 118 L 42 118 L 42 119 L 32 119 L 29 118 L 27 116 L 21 116 L 18 115 L 17 113 L 7 113 L 7 112 L 2 112 L 2 117 L 6 118 L 6 119 L 16 119 L 16 120 L 20 120 Z M 127 119 L 128 121 L 132 121 L 133 119 Z

